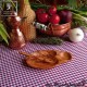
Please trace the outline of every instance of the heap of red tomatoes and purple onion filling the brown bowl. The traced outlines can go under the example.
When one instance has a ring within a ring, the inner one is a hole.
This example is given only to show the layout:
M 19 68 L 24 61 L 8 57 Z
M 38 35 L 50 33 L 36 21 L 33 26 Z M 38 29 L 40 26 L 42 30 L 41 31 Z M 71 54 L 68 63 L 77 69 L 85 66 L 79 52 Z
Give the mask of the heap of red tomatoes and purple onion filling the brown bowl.
M 65 24 L 72 21 L 72 12 L 66 9 L 59 11 L 54 5 L 48 9 L 40 8 L 36 10 L 36 21 L 45 25 Z

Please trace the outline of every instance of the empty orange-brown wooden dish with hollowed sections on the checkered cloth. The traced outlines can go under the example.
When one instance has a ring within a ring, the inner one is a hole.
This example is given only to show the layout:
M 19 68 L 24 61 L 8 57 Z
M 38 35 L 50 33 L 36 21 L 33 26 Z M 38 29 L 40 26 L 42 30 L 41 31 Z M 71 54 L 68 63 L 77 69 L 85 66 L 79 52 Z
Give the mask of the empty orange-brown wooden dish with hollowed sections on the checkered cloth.
M 34 69 L 52 69 L 59 64 L 65 63 L 72 59 L 72 54 L 66 51 L 59 50 L 38 50 L 33 53 L 25 54 L 25 62 Z

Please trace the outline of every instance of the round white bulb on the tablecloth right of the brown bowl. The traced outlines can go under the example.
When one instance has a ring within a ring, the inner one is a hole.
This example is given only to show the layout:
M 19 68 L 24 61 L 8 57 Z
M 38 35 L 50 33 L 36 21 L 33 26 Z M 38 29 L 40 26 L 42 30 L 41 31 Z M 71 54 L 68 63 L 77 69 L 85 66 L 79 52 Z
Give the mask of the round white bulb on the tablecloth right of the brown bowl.
M 73 42 L 83 41 L 84 32 L 80 28 L 73 28 L 69 30 L 69 38 Z

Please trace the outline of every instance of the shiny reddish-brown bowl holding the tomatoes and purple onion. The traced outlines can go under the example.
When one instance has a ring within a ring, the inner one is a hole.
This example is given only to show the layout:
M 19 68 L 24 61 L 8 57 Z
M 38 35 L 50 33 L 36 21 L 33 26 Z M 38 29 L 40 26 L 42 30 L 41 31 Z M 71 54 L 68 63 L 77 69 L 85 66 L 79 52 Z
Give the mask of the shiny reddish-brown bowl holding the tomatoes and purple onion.
M 71 22 L 60 25 L 48 25 L 47 30 L 40 30 L 41 33 L 50 36 L 63 36 L 71 29 Z

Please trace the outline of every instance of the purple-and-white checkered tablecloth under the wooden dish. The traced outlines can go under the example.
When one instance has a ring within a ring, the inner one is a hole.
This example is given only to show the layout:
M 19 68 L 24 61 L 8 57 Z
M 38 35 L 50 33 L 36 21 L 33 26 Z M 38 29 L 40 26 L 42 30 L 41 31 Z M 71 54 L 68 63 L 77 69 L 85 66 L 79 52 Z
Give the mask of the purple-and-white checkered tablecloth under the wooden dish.
M 58 65 L 51 70 L 35 70 L 27 67 L 23 63 L 25 57 L 18 53 L 18 51 L 30 53 L 45 49 L 69 51 L 72 53 L 73 59 L 71 62 Z M 66 87 L 63 85 L 86 83 L 86 80 L 87 38 L 78 44 L 65 41 L 62 46 L 28 42 L 21 50 L 12 50 L 0 46 L 0 87 Z

